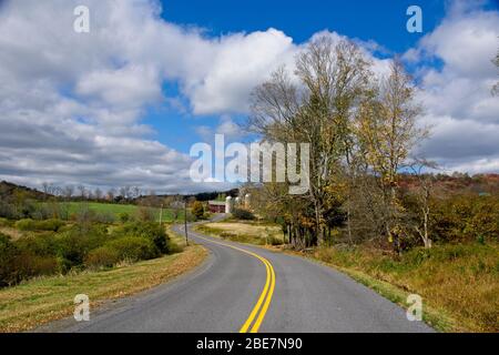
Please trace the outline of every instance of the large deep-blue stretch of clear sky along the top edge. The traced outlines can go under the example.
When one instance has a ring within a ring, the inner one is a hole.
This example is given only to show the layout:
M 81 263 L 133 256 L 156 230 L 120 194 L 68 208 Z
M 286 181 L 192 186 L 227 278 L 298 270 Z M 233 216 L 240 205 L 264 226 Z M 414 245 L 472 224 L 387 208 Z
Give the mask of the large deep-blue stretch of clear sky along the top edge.
M 374 40 L 396 52 L 406 51 L 421 37 L 405 31 L 409 6 L 421 7 L 424 31 L 434 29 L 445 14 L 441 0 L 167 0 L 162 3 L 165 20 L 202 27 L 213 36 L 276 28 L 302 43 L 328 29 L 350 38 Z

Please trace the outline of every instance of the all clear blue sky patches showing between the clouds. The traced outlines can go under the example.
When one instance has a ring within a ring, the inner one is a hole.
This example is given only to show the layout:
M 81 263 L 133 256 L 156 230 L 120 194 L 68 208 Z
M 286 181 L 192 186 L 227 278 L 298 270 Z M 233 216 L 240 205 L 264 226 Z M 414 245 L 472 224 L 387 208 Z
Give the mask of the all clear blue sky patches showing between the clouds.
M 406 31 L 406 10 L 418 4 L 424 12 L 424 32 Z M 350 39 L 374 41 L 379 44 L 379 57 L 403 54 L 416 45 L 425 33 L 430 32 L 445 17 L 446 3 L 441 0 L 386 0 L 386 1 L 202 1 L 163 0 L 162 18 L 186 28 L 203 30 L 205 37 L 218 38 L 231 33 L 266 31 L 275 28 L 293 38 L 297 44 L 305 43 L 322 30 L 335 31 Z M 164 92 L 179 94 L 175 83 L 167 83 Z M 187 103 L 189 104 L 189 103 Z M 236 114 L 234 121 L 244 120 Z M 161 142 L 189 153 L 198 125 L 215 128 L 217 115 L 193 115 L 172 109 L 154 108 L 144 122 L 155 128 Z

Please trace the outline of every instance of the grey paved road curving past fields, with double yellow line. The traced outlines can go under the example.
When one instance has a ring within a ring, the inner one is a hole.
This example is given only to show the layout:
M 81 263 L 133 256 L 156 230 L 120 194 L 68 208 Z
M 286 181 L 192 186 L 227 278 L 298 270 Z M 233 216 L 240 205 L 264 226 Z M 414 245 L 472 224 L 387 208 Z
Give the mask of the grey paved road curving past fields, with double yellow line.
M 62 331 L 432 332 L 333 268 L 193 231 L 190 237 L 211 251 L 203 266 L 92 313 L 90 322 L 67 321 Z

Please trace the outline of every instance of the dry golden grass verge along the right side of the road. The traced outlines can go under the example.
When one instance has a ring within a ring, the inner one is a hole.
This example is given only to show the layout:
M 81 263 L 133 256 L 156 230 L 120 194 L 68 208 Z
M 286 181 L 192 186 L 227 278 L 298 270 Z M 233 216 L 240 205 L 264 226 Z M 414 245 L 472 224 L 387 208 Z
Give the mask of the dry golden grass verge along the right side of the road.
M 237 230 L 234 224 L 231 229 Z M 217 223 L 200 227 L 222 237 L 224 230 Z M 244 243 L 262 244 L 261 230 L 252 233 L 247 222 L 244 230 Z M 440 332 L 499 332 L 498 244 L 435 245 L 398 260 L 367 246 L 292 253 L 338 268 L 404 307 L 409 294 L 419 294 L 425 322 Z

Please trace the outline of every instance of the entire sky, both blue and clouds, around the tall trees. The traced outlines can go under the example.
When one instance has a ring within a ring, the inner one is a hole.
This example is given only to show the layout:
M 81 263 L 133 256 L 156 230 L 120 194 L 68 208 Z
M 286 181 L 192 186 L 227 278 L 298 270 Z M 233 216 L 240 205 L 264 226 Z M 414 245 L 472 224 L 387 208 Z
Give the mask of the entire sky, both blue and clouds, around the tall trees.
M 499 172 L 497 1 L 268 2 L 0 0 L 0 180 L 225 187 L 191 182 L 191 145 L 247 139 L 252 88 L 318 33 L 356 41 L 381 72 L 404 59 L 432 126 L 426 158 Z M 80 4 L 89 33 L 73 30 Z M 406 30 L 410 4 L 422 33 Z

